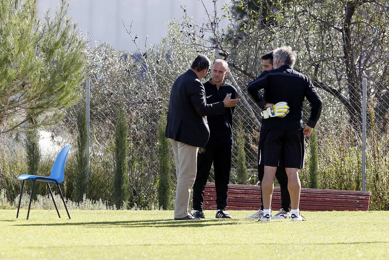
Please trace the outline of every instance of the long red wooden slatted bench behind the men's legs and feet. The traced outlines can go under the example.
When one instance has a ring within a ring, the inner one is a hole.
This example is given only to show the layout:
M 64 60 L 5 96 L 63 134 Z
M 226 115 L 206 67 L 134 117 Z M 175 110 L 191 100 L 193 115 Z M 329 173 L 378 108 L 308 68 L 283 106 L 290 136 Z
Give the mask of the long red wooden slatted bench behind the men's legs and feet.
M 370 191 L 342 191 L 333 189 L 301 189 L 300 210 L 369 210 Z M 230 184 L 228 186 L 228 210 L 258 210 L 261 207 L 261 187 Z M 204 209 L 216 209 L 214 183 L 207 183 L 204 193 Z M 274 187 L 272 209 L 281 207 L 280 188 Z

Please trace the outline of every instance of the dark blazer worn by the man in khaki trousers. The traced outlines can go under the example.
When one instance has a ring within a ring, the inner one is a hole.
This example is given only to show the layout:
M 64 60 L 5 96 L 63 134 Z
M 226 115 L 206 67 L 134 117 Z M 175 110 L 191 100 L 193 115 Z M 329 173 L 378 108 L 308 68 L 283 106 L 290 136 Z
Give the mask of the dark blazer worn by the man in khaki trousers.
M 165 136 L 195 147 L 204 147 L 209 138 L 207 115 L 224 113 L 223 101 L 207 104 L 203 84 L 188 69 L 175 80 L 170 92 Z

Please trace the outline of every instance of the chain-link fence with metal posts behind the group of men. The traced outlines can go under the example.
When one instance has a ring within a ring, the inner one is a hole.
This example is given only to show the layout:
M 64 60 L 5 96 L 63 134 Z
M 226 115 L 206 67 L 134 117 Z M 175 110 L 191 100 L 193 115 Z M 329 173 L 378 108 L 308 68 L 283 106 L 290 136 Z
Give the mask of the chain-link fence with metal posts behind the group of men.
M 251 100 L 245 90 L 247 81 L 235 78 L 242 89 L 244 98 L 258 118 L 259 108 Z M 228 81 L 228 80 L 227 80 Z M 135 204 L 150 208 L 156 203 L 156 185 L 158 182 L 158 123 L 161 116 L 166 116 L 168 106 L 168 93 L 166 95 L 153 94 L 145 89 L 150 85 L 147 79 L 128 78 L 122 79 L 91 79 L 90 86 L 90 176 L 91 193 L 96 193 L 92 198 L 110 200 L 110 186 L 114 175 L 114 138 L 117 110 L 126 111 L 129 121 L 129 162 L 130 189 Z M 366 190 L 373 191 L 376 205 L 373 208 L 382 208 L 388 205 L 387 187 L 389 186 L 389 97 L 385 84 L 367 81 L 367 125 L 366 125 Z M 326 86 L 319 86 L 325 84 Z M 351 97 L 353 87 L 361 93 L 362 82 L 350 83 L 348 81 L 329 81 L 315 83 L 319 95 L 323 99 L 321 119 L 315 128 L 319 151 L 319 179 L 320 187 L 324 189 L 362 189 L 362 95 Z M 342 90 L 338 93 L 325 89 Z M 80 93 L 81 100 L 85 100 L 86 92 Z M 342 96 L 336 96 L 341 94 Z M 357 100 L 352 103 L 352 100 Z M 85 106 L 82 101 L 68 110 L 63 124 L 55 127 L 47 134 L 49 143 L 42 145 L 42 150 L 49 147 L 60 148 L 65 143 L 76 146 L 77 124 L 76 113 L 80 106 Z M 304 105 L 304 122 L 309 117 L 310 107 Z M 353 114 L 354 113 L 354 114 Z M 351 115 L 351 116 L 350 116 Z M 259 120 L 260 121 L 260 120 Z M 246 165 L 249 171 L 249 183 L 256 184 L 258 163 L 258 139 L 259 128 L 253 122 L 247 110 L 247 106 L 238 103 L 233 116 L 234 139 L 237 136 L 238 124 L 242 123 L 245 133 Z M 305 169 L 300 170 L 303 187 L 310 186 L 310 149 L 309 138 L 306 138 L 306 164 Z M 12 150 L 16 144 L 9 138 L 2 136 L 4 150 Z M 17 151 L 18 149 L 15 149 Z M 19 149 L 18 151 L 21 151 Z M 55 156 L 56 152 L 50 150 Z M 11 152 L 12 153 L 12 152 Z M 16 152 L 14 159 L 23 160 Z M 172 178 L 174 183 L 175 169 L 173 154 Z M 54 159 L 54 157 L 52 159 Z M 3 161 L 4 165 L 4 156 Z M 75 160 L 73 159 L 73 164 Z M 237 142 L 233 144 L 231 183 L 235 183 L 237 168 Z M 75 166 L 73 167 L 75 171 Z M 73 173 L 76 174 L 76 173 Z M 71 179 L 71 177 L 68 177 Z M 212 181 L 212 174 L 211 179 Z M 68 196 L 71 196 L 71 180 L 68 180 Z M 149 198 L 154 197 L 150 202 Z M 148 198 L 148 199 L 147 199 Z M 147 202 L 146 202 L 147 201 Z M 378 205 L 378 203 L 381 203 Z M 382 205 L 384 203 L 384 205 Z M 386 203 L 386 204 L 385 204 Z

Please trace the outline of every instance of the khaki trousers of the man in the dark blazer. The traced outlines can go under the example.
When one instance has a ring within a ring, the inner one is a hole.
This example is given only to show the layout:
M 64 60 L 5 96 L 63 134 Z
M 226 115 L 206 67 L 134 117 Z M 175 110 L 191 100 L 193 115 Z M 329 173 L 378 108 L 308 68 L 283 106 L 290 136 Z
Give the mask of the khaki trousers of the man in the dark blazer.
M 191 189 L 196 179 L 198 147 L 177 142 L 169 138 L 173 147 L 177 175 L 174 218 L 184 218 L 191 214 Z

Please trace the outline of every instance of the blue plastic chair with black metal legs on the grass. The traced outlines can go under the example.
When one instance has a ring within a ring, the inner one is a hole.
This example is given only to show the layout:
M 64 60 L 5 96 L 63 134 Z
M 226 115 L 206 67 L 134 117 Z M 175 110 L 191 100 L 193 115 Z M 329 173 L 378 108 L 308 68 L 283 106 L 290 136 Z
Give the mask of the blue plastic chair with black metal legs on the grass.
M 65 161 L 66 161 L 66 157 L 68 156 L 68 152 L 69 152 L 70 147 L 72 147 L 72 146 L 67 145 L 67 146 L 62 148 L 61 152 L 58 154 L 57 158 L 54 161 L 53 168 L 51 168 L 51 173 L 50 173 L 49 177 L 38 176 L 38 175 L 29 175 L 29 174 L 19 175 L 18 179 L 22 180 L 22 187 L 20 189 L 18 213 L 16 213 L 16 218 L 18 218 L 18 216 L 19 216 L 19 208 L 20 208 L 20 202 L 22 200 L 23 186 L 24 186 L 25 180 L 32 181 L 30 204 L 28 205 L 27 219 L 28 219 L 28 215 L 30 214 L 30 207 L 31 207 L 32 195 L 33 195 L 33 191 L 34 191 L 34 184 L 35 184 L 36 180 L 39 180 L 42 182 L 47 182 L 47 186 L 49 187 L 50 195 L 51 195 L 51 198 L 53 199 L 55 209 L 57 210 L 57 213 L 58 213 L 58 217 L 61 218 L 60 212 L 58 211 L 57 204 L 54 201 L 54 196 L 53 196 L 53 193 L 51 192 L 51 188 L 50 188 L 49 183 L 57 184 L 58 189 L 60 191 L 62 201 L 63 201 L 63 205 L 65 205 L 66 212 L 68 213 L 68 217 L 70 219 L 70 214 L 69 214 L 68 208 L 66 207 L 65 199 L 63 198 L 63 194 L 62 194 L 62 191 L 60 188 L 60 183 L 63 182 L 63 179 L 64 179 L 63 172 L 65 169 Z

